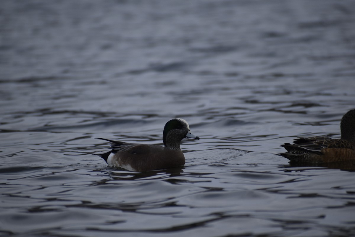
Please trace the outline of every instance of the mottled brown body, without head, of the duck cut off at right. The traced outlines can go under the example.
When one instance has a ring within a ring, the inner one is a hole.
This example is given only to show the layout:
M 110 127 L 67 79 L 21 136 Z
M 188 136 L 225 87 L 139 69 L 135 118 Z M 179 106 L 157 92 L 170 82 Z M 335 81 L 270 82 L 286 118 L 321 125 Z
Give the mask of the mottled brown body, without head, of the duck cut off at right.
M 282 145 L 287 152 L 281 153 L 291 162 L 332 163 L 343 161 L 355 162 L 355 147 L 344 139 L 327 137 L 300 137 L 294 144 Z

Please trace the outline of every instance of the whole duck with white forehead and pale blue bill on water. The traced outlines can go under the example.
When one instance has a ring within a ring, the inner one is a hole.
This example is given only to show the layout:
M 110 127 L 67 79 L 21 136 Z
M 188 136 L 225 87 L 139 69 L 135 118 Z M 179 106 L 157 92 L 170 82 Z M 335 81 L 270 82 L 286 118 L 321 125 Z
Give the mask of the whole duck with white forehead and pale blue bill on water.
M 108 166 L 126 169 L 132 172 L 145 172 L 167 169 L 185 165 L 185 156 L 180 149 L 184 138 L 200 138 L 191 133 L 186 120 L 174 118 L 169 120 L 163 131 L 163 146 L 133 144 L 97 138 L 111 143 L 111 151 L 98 154 Z

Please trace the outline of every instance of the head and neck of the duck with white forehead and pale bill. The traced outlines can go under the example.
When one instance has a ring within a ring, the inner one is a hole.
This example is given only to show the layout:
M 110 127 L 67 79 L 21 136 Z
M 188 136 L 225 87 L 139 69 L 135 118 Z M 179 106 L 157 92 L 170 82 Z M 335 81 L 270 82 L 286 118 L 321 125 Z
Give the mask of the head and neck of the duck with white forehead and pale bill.
M 163 142 L 167 149 L 180 150 L 180 142 L 184 138 L 200 139 L 190 131 L 189 124 L 181 118 L 171 119 L 165 124 Z

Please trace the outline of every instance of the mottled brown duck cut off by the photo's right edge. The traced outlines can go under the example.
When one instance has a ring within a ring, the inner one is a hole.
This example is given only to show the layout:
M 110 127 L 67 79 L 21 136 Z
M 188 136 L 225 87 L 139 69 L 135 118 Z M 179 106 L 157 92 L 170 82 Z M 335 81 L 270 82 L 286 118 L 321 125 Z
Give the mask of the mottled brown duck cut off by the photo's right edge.
M 355 162 L 355 109 L 343 116 L 340 133 L 340 139 L 299 137 L 294 140 L 294 144 L 281 145 L 287 152 L 280 155 L 288 158 L 291 163 Z

